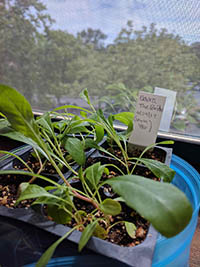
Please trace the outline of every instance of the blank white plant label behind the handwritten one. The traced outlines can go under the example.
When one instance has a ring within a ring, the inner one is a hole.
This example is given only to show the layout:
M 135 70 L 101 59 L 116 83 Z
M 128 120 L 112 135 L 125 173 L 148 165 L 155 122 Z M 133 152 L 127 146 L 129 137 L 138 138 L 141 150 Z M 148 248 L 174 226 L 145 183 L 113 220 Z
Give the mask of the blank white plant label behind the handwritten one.
M 159 130 L 169 132 L 174 105 L 176 102 L 176 92 L 172 90 L 156 87 L 154 90 L 154 94 L 166 96 L 166 103 L 165 103 L 165 107 L 163 110 L 163 115 L 161 118 Z

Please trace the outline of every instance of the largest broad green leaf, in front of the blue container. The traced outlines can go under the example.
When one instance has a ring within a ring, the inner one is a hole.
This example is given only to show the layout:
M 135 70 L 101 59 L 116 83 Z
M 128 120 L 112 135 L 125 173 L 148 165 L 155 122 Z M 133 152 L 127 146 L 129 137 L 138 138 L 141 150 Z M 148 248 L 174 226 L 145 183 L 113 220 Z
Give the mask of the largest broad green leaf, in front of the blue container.
M 192 206 L 185 194 L 171 184 L 137 175 L 113 177 L 105 183 L 166 237 L 180 233 L 192 217 Z

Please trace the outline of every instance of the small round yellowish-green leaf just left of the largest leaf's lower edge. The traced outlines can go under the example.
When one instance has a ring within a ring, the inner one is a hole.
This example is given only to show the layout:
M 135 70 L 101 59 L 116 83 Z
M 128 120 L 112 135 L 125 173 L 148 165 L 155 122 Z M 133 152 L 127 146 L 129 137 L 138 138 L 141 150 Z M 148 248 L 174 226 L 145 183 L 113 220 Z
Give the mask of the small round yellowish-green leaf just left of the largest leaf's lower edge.
M 104 214 L 113 216 L 118 215 L 122 209 L 120 203 L 111 198 L 106 198 L 99 207 Z

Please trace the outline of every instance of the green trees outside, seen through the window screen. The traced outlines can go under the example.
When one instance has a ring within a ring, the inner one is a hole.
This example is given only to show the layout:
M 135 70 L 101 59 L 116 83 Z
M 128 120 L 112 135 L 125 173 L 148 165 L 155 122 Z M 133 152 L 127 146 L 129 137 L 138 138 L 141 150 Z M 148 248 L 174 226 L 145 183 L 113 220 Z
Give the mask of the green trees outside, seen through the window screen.
M 99 105 L 105 100 L 105 108 L 115 110 L 121 103 L 122 110 L 134 109 L 139 90 L 162 87 L 177 91 L 174 127 L 200 125 L 200 110 L 189 93 L 200 83 L 199 43 L 186 44 L 155 24 L 136 31 L 134 21 L 108 45 L 99 29 L 75 36 L 53 25 L 40 0 L 0 4 L 0 82 L 21 90 L 33 107 L 64 104 L 63 97 L 88 88 Z

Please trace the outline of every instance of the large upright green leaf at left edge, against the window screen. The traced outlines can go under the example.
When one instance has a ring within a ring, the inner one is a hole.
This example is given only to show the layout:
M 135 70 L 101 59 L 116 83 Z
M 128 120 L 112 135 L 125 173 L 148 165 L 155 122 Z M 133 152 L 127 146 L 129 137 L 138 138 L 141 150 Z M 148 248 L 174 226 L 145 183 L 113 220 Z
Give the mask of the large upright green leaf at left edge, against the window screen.
M 0 110 L 13 129 L 38 142 L 39 130 L 31 105 L 23 95 L 9 86 L 0 85 Z

